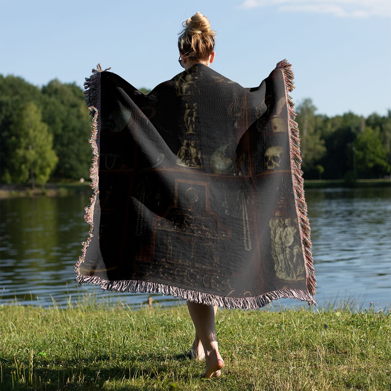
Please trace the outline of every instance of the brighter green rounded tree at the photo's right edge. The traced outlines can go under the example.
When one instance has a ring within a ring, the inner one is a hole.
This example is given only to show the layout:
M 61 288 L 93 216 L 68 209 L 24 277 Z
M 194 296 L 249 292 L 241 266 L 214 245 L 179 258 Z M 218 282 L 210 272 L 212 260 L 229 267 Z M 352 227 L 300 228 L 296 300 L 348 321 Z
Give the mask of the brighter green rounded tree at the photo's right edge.
M 354 143 L 359 176 L 373 178 L 389 173 L 387 148 L 379 133 L 378 129 L 367 126 Z

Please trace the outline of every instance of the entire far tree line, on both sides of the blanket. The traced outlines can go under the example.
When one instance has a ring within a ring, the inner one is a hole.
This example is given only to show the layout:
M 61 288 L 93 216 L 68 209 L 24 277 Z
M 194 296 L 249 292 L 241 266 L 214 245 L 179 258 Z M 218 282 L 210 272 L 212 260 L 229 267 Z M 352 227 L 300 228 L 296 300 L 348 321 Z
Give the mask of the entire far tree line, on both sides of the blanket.
M 0 90 L 1 182 L 34 186 L 87 178 L 91 117 L 83 90 L 58 80 L 38 88 L 13 75 L 0 75 Z M 390 110 L 367 118 L 351 112 L 327 117 L 316 111 L 310 99 L 296 106 L 304 178 L 389 175 Z

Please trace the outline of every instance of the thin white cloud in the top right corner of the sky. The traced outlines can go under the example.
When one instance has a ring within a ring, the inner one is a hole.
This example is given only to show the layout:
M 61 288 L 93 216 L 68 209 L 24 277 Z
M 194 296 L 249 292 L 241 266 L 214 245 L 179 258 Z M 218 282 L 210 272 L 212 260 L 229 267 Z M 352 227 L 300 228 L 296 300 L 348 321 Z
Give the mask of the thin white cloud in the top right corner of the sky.
M 244 0 L 240 7 L 276 7 L 281 12 L 332 14 L 340 18 L 391 16 L 390 0 Z

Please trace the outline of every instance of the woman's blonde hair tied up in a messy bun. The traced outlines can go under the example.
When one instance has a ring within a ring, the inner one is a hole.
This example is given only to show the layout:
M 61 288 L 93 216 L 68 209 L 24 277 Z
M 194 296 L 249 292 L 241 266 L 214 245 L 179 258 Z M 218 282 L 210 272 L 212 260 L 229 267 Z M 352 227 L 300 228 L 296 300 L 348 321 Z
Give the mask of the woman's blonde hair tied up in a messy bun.
M 216 33 L 210 29 L 206 16 L 197 12 L 182 23 L 183 30 L 178 38 L 179 52 L 185 54 L 190 61 L 207 60 L 215 47 Z

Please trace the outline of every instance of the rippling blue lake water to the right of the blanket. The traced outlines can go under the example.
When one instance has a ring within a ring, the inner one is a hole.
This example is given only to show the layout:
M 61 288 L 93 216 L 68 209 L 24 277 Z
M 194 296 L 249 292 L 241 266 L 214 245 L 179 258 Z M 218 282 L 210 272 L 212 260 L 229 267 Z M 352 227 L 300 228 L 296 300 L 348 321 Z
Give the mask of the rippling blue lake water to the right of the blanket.
M 317 300 L 391 303 L 390 188 L 308 189 Z

